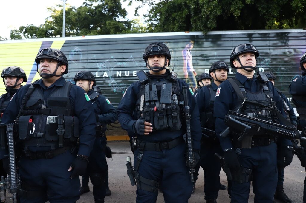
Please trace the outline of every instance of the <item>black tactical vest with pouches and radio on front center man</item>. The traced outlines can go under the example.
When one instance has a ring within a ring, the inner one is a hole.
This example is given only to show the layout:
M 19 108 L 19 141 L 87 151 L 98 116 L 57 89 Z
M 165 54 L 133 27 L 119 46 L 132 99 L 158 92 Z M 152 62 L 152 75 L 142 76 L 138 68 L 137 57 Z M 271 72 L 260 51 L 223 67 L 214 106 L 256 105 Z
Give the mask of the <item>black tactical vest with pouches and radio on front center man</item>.
M 141 84 L 137 94 L 133 117 L 152 124 L 153 130 L 180 130 L 182 126 L 181 92 L 176 79 L 152 81 Z

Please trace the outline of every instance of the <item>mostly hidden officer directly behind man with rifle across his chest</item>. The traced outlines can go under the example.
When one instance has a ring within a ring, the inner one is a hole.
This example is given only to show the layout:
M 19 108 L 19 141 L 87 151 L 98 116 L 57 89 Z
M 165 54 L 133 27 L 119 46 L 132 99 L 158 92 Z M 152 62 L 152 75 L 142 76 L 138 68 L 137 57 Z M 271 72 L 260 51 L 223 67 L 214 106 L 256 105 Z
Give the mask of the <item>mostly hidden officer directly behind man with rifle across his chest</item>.
M 269 79 L 269 81 L 271 81 L 272 84 L 274 85 L 274 82 L 276 79 L 275 75 L 271 71 L 265 71 L 264 73 L 267 75 L 267 78 Z M 284 111 L 286 112 L 286 116 L 288 120 L 297 128 L 297 124 L 299 121 L 294 113 L 293 107 L 291 106 L 290 102 L 287 100 L 287 97 L 275 86 L 274 88 L 276 89 L 282 101 L 284 102 Z M 281 153 L 282 152 L 278 153 L 278 156 L 281 155 Z M 276 192 L 274 194 L 274 198 L 284 203 L 293 203 L 293 201 L 289 199 L 289 197 L 286 195 L 284 191 L 284 187 L 283 187 L 284 169 L 285 167 L 278 166 L 278 181 L 277 181 L 277 187 L 276 187 Z

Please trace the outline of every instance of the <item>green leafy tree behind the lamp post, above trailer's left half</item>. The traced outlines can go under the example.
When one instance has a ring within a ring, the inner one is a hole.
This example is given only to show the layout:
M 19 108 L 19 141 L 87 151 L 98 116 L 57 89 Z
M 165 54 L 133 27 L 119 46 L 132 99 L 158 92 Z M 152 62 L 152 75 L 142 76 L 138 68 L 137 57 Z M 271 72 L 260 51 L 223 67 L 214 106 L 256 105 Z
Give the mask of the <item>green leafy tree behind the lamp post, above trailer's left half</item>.
M 63 6 L 48 8 L 52 13 L 40 26 L 27 25 L 11 31 L 11 39 L 45 38 L 62 35 Z M 127 12 L 120 0 L 85 0 L 82 6 L 66 7 L 65 35 L 118 34 L 128 32 L 131 22 L 124 20 Z

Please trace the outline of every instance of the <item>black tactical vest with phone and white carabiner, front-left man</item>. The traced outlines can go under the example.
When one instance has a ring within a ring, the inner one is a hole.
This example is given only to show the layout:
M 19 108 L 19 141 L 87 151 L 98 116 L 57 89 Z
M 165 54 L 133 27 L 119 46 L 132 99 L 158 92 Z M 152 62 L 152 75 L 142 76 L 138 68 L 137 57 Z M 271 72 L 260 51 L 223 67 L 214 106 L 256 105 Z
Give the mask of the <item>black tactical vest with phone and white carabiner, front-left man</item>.
M 69 100 L 69 92 L 72 87 L 70 82 L 65 82 L 61 87 L 55 87 L 47 100 L 44 100 L 43 90 L 33 83 L 34 91 L 19 118 L 19 139 L 23 147 L 51 147 L 68 145 L 76 141 L 80 136 L 79 120 L 73 116 L 73 109 Z M 63 115 L 63 143 L 59 143 L 58 116 Z M 61 145 L 62 144 L 62 145 Z

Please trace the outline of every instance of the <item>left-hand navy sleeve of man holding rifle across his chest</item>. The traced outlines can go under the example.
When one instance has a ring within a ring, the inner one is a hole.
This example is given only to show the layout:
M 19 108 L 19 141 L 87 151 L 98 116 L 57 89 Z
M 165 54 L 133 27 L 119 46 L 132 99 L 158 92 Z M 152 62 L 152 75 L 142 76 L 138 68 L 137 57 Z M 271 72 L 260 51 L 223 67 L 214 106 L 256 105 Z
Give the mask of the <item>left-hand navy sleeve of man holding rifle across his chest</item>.
M 215 129 L 222 149 L 226 150 L 233 148 L 230 135 L 227 137 L 221 137 L 220 133 L 228 127 L 224 123 L 224 117 L 233 105 L 233 91 L 230 89 L 228 81 L 222 82 L 219 88 L 214 103 Z

